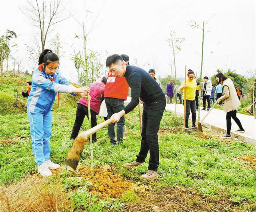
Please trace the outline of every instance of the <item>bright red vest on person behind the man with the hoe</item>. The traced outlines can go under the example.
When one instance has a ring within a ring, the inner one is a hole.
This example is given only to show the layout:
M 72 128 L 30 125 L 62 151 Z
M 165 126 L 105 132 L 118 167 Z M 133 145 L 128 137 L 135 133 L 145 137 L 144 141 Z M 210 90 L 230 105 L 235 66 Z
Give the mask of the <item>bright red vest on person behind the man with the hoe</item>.
M 111 71 L 108 72 L 108 79 L 106 82 L 106 88 L 104 97 L 127 99 L 129 85 L 125 77 L 115 77 Z

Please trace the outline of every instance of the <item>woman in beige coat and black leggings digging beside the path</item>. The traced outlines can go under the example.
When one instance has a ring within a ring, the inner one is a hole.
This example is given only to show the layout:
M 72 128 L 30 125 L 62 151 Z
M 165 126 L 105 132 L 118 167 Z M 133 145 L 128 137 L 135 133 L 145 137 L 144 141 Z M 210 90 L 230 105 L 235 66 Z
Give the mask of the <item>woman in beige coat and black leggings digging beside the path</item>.
M 215 76 L 215 79 L 222 83 L 222 97 L 217 99 L 217 103 L 220 103 L 221 101 L 224 103 L 223 108 L 224 111 L 227 113 L 226 115 L 226 121 L 227 121 L 227 133 L 222 136 L 222 138 L 232 138 L 230 135 L 231 131 L 231 118 L 234 119 L 236 124 L 238 125 L 239 129 L 236 130 L 236 132 L 244 133 L 244 128 L 242 127 L 242 124 L 240 120 L 236 117 L 236 110 L 238 106 L 241 104 L 238 96 L 236 94 L 236 89 L 234 87 L 234 83 L 230 78 L 227 78 L 223 75 L 223 73 L 217 73 Z

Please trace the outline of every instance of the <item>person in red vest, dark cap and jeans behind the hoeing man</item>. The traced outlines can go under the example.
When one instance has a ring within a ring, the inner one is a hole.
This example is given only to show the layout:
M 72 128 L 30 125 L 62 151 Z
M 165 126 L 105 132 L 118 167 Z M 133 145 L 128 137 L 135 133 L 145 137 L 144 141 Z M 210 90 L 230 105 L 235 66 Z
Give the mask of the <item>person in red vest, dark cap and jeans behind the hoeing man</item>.
M 126 54 L 121 55 L 125 64 L 129 64 L 129 56 Z M 105 88 L 105 103 L 108 111 L 108 119 L 114 114 L 124 109 L 124 100 L 128 96 L 129 85 L 125 77 L 115 77 L 111 71 L 108 72 L 108 79 Z M 124 139 L 124 116 L 121 117 L 120 121 L 116 123 L 116 134 L 115 134 L 115 123 L 108 125 L 108 136 L 110 138 L 111 145 L 117 145 L 122 143 Z M 117 141 L 115 139 L 117 135 Z

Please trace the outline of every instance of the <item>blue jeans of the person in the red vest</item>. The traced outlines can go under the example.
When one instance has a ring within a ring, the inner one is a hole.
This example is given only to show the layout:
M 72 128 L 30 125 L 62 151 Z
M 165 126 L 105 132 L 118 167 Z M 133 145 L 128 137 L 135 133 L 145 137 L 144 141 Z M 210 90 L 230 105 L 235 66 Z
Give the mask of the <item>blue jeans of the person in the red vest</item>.
M 108 111 L 108 119 L 114 114 L 118 113 L 124 109 L 124 100 L 123 99 L 116 99 L 116 98 L 105 98 L 105 103 Z M 116 123 L 116 134 L 117 134 L 117 141 L 122 142 L 124 139 L 124 116 L 120 118 L 120 120 Z M 108 125 L 108 136 L 110 138 L 111 143 L 116 143 L 115 140 L 115 124 L 110 123 Z

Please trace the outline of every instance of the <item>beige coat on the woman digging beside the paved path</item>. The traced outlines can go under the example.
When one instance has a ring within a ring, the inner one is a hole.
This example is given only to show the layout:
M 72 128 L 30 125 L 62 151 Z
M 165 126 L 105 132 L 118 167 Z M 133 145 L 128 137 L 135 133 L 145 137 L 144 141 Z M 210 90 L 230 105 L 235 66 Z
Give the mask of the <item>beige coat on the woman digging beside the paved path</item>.
M 234 83 L 230 78 L 224 80 L 222 85 L 223 96 L 220 97 L 220 101 L 223 101 L 224 111 L 228 113 L 230 111 L 237 109 L 241 103 L 238 99 Z

